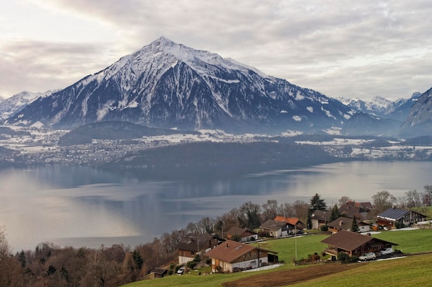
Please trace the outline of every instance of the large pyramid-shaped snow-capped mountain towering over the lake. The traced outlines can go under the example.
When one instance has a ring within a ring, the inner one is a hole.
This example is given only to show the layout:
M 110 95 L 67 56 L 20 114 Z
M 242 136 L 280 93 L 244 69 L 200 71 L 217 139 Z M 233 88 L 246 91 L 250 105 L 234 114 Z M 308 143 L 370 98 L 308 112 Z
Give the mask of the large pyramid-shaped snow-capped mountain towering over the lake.
M 148 127 L 320 131 L 355 111 L 319 92 L 161 37 L 6 120 L 77 127 L 124 120 Z

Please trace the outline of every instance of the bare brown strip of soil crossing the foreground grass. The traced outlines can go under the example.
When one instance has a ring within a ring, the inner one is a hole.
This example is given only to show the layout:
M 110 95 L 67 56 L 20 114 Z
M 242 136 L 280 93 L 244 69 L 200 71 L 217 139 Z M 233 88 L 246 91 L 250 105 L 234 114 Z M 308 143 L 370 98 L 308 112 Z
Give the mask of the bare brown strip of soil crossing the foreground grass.
M 275 273 L 255 275 L 247 279 L 239 279 L 222 284 L 226 287 L 273 287 L 296 284 L 317 277 L 337 273 L 340 271 L 356 268 L 361 264 L 320 264 L 308 266 L 306 268 L 297 268 L 283 270 Z

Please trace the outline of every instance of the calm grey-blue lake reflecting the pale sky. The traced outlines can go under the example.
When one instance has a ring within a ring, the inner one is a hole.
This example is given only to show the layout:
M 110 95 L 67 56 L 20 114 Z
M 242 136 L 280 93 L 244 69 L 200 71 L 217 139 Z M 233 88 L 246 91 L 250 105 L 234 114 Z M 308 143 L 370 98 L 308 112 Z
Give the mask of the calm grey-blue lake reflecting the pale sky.
M 14 251 L 40 242 L 133 247 L 248 201 L 308 202 L 318 193 L 329 205 L 344 195 L 371 202 L 382 190 L 396 198 L 422 192 L 431 174 L 432 162 L 342 162 L 205 181 L 139 180 L 89 167 L 3 169 L 0 226 Z

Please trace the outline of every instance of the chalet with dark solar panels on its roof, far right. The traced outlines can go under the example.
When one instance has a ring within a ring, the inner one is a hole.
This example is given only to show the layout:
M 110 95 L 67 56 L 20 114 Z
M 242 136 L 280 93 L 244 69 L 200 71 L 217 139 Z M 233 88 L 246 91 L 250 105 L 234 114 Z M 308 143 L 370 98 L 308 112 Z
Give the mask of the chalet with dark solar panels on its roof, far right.
M 425 221 L 426 215 L 407 209 L 397 209 L 392 207 L 377 215 L 377 224 L 389 228 L 399 226 L 409 226 L 415 222 Z

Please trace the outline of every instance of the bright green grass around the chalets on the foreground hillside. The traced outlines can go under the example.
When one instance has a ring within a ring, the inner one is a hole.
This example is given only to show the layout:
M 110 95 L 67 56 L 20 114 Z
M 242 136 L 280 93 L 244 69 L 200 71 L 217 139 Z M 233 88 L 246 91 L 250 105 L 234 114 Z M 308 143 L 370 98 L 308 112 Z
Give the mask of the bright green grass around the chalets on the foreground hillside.
M 404 253 L 422 253 L 432 251 L 432 230 L 413 231 L 384 231 L 373 235 L 374 237 L 399 244 L 397 249 Z M 297 250 L 297 259 L 308 257 L 313 253 L 321 254 L 326 244 L 321 240 L 328 235 L 306 235 L 297 238 L 269 240 L 259 243 L 261 248 L 279 252 L 279 260 L 285 262 L 273 270 L 257 271 L 252 273 L 211 274 L 198 275 L 192 271 L 186 275 L 173 275 L 161 279 L 139 281 L 126 285 L 127 287 L 163 287 L 163 286 L 221 286 L 222 283 L 242 279 L 264 273 L 277 273 L 279 270 L 292 268 L 307 268 L 307 266 L 294 266 L 293 258 Z M 254 244 L 257 245 L 257 244 Z M 291 286 L 427 286 L 432 281 L 432 255 L 416 255 L 400 259 L 390 259 L 377 262 L 361 263 L 362 266 L 335 275 L 308 280 L 302 284 Z M 357 264 L 357 263 L 354 263 Z M 275 273 L 275 274 L 276 274 Z M 270 276 L 270 275 L 269 275 Z M 125 287 L 126 287 L 125 286 Z

